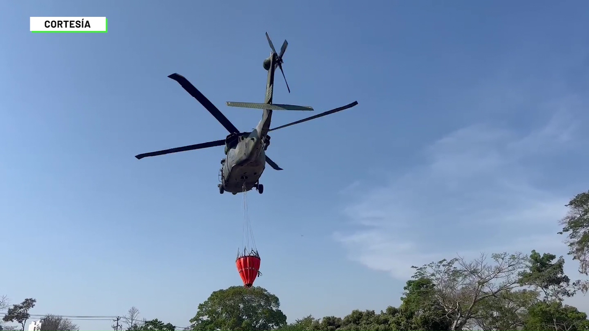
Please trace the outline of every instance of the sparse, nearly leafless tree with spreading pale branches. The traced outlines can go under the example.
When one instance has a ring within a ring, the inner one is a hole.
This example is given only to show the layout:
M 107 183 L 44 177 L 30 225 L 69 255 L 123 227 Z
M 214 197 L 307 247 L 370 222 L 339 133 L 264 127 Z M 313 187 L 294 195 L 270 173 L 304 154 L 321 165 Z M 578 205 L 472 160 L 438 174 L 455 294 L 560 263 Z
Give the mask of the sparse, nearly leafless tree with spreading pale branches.
M 444 309 L 451 322 L 449 330 L 462 330 L 485 307 L 484 300 L 519 286 L 519 274 L 527 268 L 527 256 L 500 253 L 491 257 L 493 264 L 481 254 L 472 262 L 459 257 L 413 267 L 413 279 L 426 279 L 433 284 L 432 299 Z

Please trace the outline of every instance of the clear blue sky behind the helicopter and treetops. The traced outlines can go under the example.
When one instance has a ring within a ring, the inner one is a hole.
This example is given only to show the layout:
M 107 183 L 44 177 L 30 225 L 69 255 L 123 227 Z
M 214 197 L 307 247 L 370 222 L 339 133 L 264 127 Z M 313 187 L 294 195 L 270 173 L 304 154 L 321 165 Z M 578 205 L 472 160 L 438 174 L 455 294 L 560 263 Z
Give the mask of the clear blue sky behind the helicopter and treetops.
M 265 31 L 289 41 L 292 93 L 277 80 L 276 102 L 359 102 L 274 133 L 284 171 L 248 195 L 256 284 L 289 320 L 397 305 L 412 264 L 456 253 L 564 254 L 557 220 L 589 186 L 589 4 L 448 4 L 2 2 L 0 294 L 35 297 L 35 314 L 137 306 L 186 326 L 240 284 L 223 148 L 133 156 L 226 135 L 173 72 L 253 128 L 261 112 L 224 102 L 263 101 Z M 29 32 L 29 16 L 83 15 L 107 16 L 108 34 Z

